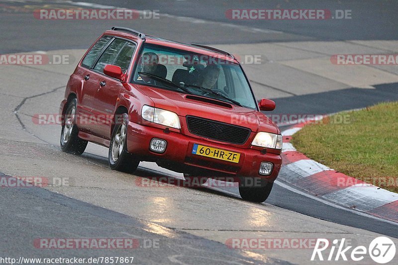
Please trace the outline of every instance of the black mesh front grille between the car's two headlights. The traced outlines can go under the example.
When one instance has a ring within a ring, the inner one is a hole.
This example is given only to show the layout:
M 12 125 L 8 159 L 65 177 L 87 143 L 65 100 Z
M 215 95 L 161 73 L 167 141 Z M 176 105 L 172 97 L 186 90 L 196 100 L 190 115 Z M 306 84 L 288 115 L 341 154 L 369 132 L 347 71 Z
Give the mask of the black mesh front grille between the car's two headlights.
M 192 134 L 238 145 L 244 144 L 251 133 L 249 128 L 193 116 L 187 116 L 187 124 Z

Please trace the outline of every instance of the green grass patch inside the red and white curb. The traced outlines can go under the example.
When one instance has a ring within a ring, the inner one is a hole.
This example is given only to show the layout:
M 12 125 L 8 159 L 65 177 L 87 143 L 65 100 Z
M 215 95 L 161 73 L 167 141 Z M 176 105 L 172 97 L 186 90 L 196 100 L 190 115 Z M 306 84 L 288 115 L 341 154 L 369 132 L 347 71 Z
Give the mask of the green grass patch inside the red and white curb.
M 336 171 L 398 192 L 398 102 L 326 117 L 304 126 L 292 143 Z

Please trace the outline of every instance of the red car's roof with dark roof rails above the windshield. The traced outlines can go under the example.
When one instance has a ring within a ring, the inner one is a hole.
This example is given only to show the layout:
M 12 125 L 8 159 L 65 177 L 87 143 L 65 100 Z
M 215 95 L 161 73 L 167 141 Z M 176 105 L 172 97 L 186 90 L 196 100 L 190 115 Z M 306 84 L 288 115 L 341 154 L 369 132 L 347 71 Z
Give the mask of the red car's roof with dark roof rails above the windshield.
M 129 29 L 129 28 L 122 28 L 122 27 L 112 27 L 112 29 L 110 31 L 105 31 L 104 34 L 107 34 L 107 33 L 112 33 L 112 35 L 119 35 L 122 37 L 130 36 L 129 39 L 134 39 L 136 37 L 139 37 L 146 43 L 162 45 L 162 46 L 180 49 L 180 50 L 187 50 L 190 52 L 199 53 L 199 54 L 203 54 L 203 55 L 207 55 L 207 56 L 211 56 L 211 57 L 216 57 L 216 58 L 224 59 L 224 60 L 234 62 L 234 63 L 239 63 L 232 54 L 222 51 L 217 48 L 206 46 L 206 45 L 188 44 L 188 43 L 169 40 L 169 39 L 165 39 L 165 38 L 161 38 L 161 37 L 157 37 L 157 36 L 153 36 L 153 35 L 145 35 L 144 33 L 138 32 L 136 30 Z M 133 38 L 131 38 L 131 37 L 133 37 Z

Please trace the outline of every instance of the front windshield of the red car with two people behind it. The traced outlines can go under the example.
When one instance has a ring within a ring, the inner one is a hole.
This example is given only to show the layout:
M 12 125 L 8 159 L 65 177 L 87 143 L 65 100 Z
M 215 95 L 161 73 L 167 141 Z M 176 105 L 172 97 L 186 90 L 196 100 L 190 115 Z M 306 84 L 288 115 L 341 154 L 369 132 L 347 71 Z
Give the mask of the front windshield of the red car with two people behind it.
M 238 64 L 189 51 L 145 44 L 133 83 L 257 109 L 256 100 Z

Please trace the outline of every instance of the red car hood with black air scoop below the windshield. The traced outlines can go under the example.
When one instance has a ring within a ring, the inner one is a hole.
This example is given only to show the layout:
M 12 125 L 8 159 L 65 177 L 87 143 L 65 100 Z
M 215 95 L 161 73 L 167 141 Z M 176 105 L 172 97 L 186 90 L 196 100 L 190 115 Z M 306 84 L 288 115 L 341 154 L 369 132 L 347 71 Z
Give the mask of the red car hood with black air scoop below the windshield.
M 253 132 L 280 134 L 278 127 L 260 111 L 234 104 L 225 104 L 218 100 L 210 100 L 213 103 L 202 102 L 200 100 L 208 100 L 208 98 L 177 91 L 143 85 L 136 86 L 152 99 L 155 107 L 173 111 L 179 116 L 197 116 L 250 128 Z

